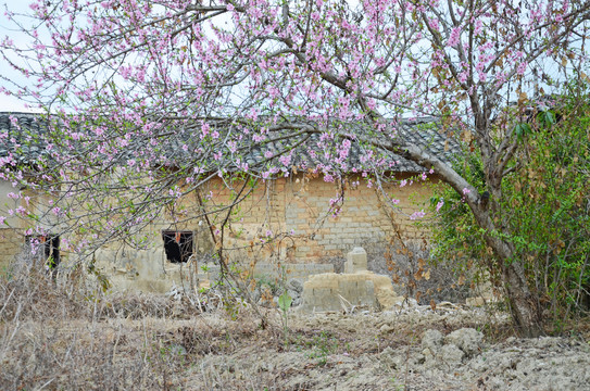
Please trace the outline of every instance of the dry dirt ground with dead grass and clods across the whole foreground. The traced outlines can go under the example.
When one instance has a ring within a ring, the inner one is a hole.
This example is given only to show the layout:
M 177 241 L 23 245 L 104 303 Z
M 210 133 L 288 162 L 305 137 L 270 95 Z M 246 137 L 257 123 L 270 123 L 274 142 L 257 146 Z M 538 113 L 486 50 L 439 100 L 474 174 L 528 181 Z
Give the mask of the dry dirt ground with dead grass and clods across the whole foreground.
M 287 328 L 264 310 L 263 328 L 249 308 L 138 303 L 0 321 L 0 389 L 590 390 L 590 333 L 518 339 L 481 308 L 294 310 Z

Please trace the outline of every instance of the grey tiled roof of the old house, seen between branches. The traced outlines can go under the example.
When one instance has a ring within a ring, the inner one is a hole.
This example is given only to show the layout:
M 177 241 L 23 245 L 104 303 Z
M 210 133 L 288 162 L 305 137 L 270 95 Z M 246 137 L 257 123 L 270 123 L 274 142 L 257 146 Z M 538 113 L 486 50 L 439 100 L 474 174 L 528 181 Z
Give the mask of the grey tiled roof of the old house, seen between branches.
M 11 115 L 17 119 L 17 125 L 11 121 Z M 351 134 L 356 133 L 368 135 L 368 137 L 376 137 L 371 136 L 375 131 L 368 125 L 353 124 L 350 126 L 357 127 L 354 131 L 351 131 Z M 8 135 L 8 137 L 0 138 L 0 157 L 5 156 L 10 150 L 13 152 L 13 156 L 17 157 L 21 163 L 30 163 L 38 160 L 41 155 L 47 153 L 38 137 L 45 133 L 43 129 L 47 129 L 47 121 L 42 119 L 37 114 L 0 113 L 0 134 Z M 456 155 L 460 152 L 460 146 L 456 144 L 456 142 L 451 142 L 450 139 L 439 131 L 438 123 L 435 118 L 418 118 L 412 122 L 406 121 L 401 125 L 398 125 L 397 130 L 398 137 L 406 140 L 409 143 L 415 143 L 427 149 L 430 153 L 443 161 L 450 162 L 453 159 L 453 155 Z M 249 151 L 244 153 L 243 160 L 250 167 L 254 167 L 265 160 L 264 154 L 266 152 L 278 155 L 286 149 L 289 150 L 300 141 L 302 137 L 304 136 L 268 142 L 264 146 L 252 143 Z M 168 138 L 165 141 L 166 146 L 164 148 L 170 151 L 168 154 L 171 160 L 177 162 L 190 161 L 190 152 L 185 151 L 181 147 L 184 143 L 190 144 L 191 138 L 191 134 L 185 134 L 184 136 Z M 310 139 L 305 141 L 305 147 L 296 147 L 291 153 L 292 160 L 290 165 L 314 168 L 318 164 L 325 165 L 330 163 L 326 162 L 325 151 L 323 150 L 324 147 L 318 147 L 322 144 L 319 143 L 319 138 L 321 135 L 313 134 Z M 21 147 L 16 149 L 15 147 L 18 143 Z M 338 144 L 338 142 L 334 143 L 334 146 L 336 144 Z M 371 148 L 366 144 L 353 142 L 346 160 L 346 166 L 349 168 L 371 168 L 366 167 L 366 164 L 363 163 L 363 156 L 367 154 L 369 149 Z M 420 167 L 416 163 L 389 151 L 373 149 L 371 153 L 378 159 L 380 157 L 382 161 L 396 162 L 394 165 L 388 168 L 388 171 L 391 172 L 418 173 L 425 169 L 425 167 Z M 124 159 L 122 157 L 122 160 Z

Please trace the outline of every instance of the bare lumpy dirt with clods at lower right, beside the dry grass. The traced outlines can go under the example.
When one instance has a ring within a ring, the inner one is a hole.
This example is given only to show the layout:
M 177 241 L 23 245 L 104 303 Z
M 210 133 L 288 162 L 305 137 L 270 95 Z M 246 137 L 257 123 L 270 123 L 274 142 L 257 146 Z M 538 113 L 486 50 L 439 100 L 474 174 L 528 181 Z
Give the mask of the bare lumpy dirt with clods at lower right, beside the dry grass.
M 194 387 L 219 390 L 248 384 L 267 390 L 589 389 L 588 342 L 510 338 L 491 343 L 473 327 L 455 329 L 468 324 L 467 317 L 478 323 L 485 314 L 298 316 L 287 344 L 209 356 L 192 380 Z

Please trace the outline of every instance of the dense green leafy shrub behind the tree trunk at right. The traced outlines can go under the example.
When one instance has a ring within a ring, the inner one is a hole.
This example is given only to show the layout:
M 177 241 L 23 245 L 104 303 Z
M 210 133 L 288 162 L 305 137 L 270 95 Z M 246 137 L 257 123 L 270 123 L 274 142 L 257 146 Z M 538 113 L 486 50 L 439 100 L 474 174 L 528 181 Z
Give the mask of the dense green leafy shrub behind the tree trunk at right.
M 518 153 L 502 181 L 498 207 L 502 239 L 512 243 L 512 261 L 525 265 L 537 305 L 555 326 L 589 308 L 590 297 L 590 104 L 588 88 L 555 99 L 552 110 L 533 110 L 515 127 Z M 455 169 L 486 193 L 478 154 Z M 487 195 L 487 194 L 486 194 Z M 485 197 L 481 198 L 485 202 Z M 442 206 L 441 206 L 442 205 Z M 501 270 L 482 229 L 461 195 L 444 188 L 431 200 L 437 210 L 435 255 L 454 260 L 460 268 L 478 267 L 499 283 Z M 511 234 L 505 234 L 511 232 Z M 509 262 L 512 262 L 509 261 Z

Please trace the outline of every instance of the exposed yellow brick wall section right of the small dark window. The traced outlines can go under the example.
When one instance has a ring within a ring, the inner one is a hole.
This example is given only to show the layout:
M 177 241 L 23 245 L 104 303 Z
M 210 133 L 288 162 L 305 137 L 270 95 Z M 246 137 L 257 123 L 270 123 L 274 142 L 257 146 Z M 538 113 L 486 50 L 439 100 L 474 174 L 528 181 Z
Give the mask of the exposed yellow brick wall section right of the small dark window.
M 398 175 L 397 179 L 410 178 Z M 351 185 L 357 180 L 359 186 Z M 217 206 L 229 203 L 229 192 L 221 180 L 211 184 L 210 189 L 213 197 L 208 207 L 213 207 L 213 203 Z M 426 210 L 420 203 L 431 194 L 428 185 L 387 187 L 386 192 L 400 200 L 400 209 L 393 212 L 382 204 L 375 187 L 368 188 L 362 178 L 350 177 L 344 185 L 341 211 L 334 216 L 329 204 L 330 199 L 338 197 L 338 189 L 339 186 L 325 182 L 322 177 L 303 175 L 261 182 L 238 206 L 239 212 L 231 219 L 233 234 L 225 237 L 225 244 L 242 248 L 241 252 L 234 251 L 240 257 L 265 260 L 276 255 L 289 262 L 315 262 L 343 256 L 353 247 L 387 243 L 394 235 L 394 227 L 404 240 L 428 238 L 428 231 L 416 227 L 409 217 L 422 207 Z M 211 218 L 218 227 L 219 216 Z M 274 237 L 285 235 L 274 244 L 261 245 L 267 231 Z

